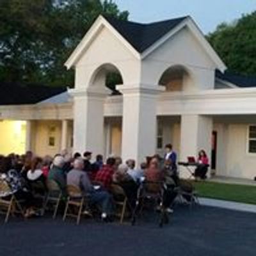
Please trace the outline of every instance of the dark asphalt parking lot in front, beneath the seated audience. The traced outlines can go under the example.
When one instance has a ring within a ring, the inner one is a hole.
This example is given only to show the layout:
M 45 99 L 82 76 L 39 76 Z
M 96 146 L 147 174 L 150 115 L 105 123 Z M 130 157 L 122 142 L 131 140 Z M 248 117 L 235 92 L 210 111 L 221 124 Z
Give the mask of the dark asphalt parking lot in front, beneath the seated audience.
M 0 226 L 3 256 L 255 256 L 256 215 L 212 207 L 175 209 L 170 224 L 157 227 L 155 216 L 129 223 L 61 218 L 10 219 Z M 3 218 L 0 218 L 3 221 Z

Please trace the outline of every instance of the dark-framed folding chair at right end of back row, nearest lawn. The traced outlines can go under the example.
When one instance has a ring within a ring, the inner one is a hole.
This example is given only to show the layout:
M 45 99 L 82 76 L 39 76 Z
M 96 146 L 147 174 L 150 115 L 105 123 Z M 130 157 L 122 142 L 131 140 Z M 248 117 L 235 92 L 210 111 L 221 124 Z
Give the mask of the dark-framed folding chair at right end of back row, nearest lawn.
M 166 211 L 166 207 L 164 207 L 163 204 L 163 196 L 164 182 L 144 181 L 138 189 L 136 207 L 132 212 L 132 225 L 134 225 L 136 222 L 138 210 L 140 210 L 139 214 L 141 214 L 141 212 L 143 211 L 143 208 L 145 207 L 145 201 L 147 199 L 152 200 L 152 202 L 154 203 L 154 211 L 156 211 L 157 207 L 159 207 L 159 227 L 163 227 L 163 224 L 167 224 L 169 222 L 169 217 L 168 212 Z

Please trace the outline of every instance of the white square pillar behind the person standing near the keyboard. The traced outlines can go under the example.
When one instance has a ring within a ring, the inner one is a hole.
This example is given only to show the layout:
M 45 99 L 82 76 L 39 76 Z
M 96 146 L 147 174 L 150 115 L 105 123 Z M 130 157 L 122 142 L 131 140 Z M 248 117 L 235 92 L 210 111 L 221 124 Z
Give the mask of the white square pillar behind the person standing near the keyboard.
M 182 115 L 180 129 L 180 161 L 187 161 L 188 156 L 197 157 L 198 151 L 204 149 L 211 162 L 212 117 Z

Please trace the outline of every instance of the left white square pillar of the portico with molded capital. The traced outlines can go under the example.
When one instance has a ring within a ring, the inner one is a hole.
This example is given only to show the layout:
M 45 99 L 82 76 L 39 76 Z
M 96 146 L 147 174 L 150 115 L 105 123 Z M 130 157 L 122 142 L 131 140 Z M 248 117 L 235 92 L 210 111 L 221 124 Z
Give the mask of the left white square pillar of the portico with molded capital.
M 74 97 L 74 152 L 104 154 L 104 100 L 108 90 L 70 90 Z

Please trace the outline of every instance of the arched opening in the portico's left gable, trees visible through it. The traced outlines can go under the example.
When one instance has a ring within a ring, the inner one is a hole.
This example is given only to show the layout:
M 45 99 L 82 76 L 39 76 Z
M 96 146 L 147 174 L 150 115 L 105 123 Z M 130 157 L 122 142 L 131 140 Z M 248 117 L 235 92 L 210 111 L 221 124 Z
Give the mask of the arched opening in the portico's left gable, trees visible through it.
M 110 95 L 120 95 L 121 93 L 116 90 L 117 84 L 123 84 L 123 78 L 120 70 L 115 65 L 107 63 L 101 65 L 95 70 L 92 79 L 92 86 L 106 86 L 110 90 Z

